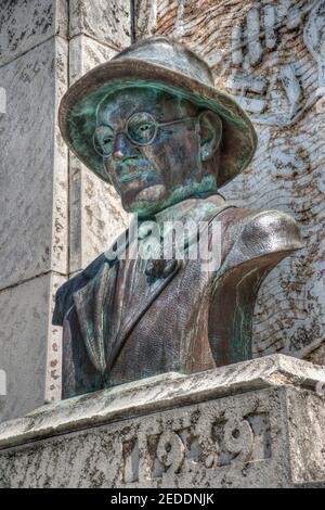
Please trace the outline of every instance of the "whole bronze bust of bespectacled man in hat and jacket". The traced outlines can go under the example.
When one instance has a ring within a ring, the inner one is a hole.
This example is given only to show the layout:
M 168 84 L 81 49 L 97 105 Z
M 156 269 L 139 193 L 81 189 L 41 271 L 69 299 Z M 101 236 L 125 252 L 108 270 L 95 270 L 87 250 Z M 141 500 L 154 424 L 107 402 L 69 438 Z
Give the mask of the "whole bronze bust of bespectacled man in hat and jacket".
M 237 208 L 220 195 L 250 163 L 257 136 L 235 101 L 213 88 L 208 65 L 166 37 L 139 42 L 69 89 L 60 125 L 139 227 L 57 292 L 63 397 L 249 359 L 259 285 L 303 244 L 288 215 Z M 146 220 L 164 231 L 188 219 L 207 226 L 218 267 L 204 270 L 200 257 L 130 256 L 135 242 L 145 245 Z

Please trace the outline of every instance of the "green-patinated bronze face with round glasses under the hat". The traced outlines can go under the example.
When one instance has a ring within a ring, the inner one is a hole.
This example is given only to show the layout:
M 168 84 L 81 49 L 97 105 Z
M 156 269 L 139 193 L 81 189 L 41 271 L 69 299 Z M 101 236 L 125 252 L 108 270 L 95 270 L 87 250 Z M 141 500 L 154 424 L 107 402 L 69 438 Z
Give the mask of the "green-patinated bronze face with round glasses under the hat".
M 155 129 L 153 119 L 184 120 Z M 106 98 L 95 143 L 108 149 L 104 165 L 125 209 L 142 217 L 190 196 L 204 179 L 197 107 L 155 89 L 129 88 Z

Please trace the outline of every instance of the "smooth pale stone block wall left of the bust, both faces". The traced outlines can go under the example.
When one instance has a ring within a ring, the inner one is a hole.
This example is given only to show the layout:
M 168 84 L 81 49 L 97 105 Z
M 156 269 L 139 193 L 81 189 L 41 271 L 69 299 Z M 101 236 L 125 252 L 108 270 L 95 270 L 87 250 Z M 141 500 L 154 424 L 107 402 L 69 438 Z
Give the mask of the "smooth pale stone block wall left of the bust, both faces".
M 57 109 L 129 43 L 129 0 L 0 0 L 0 421 L 60 398 L 55 291 L 125 226 L 112 189 L 69 158 Z

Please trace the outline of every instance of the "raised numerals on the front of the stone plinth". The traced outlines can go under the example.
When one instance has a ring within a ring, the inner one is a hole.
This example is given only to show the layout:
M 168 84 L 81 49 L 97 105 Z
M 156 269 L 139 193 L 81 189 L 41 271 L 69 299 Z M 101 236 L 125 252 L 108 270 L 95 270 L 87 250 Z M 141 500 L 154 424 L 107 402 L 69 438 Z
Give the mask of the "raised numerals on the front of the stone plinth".
M 173 428 L 158 434 L 141 432 L 123 442 L 122 483 L 182 474 L 196 466 L 221 469 L 271 458 L 270 419 L 264 412 L 203 415 L 194 425 L 179 429 L 176 422 Z

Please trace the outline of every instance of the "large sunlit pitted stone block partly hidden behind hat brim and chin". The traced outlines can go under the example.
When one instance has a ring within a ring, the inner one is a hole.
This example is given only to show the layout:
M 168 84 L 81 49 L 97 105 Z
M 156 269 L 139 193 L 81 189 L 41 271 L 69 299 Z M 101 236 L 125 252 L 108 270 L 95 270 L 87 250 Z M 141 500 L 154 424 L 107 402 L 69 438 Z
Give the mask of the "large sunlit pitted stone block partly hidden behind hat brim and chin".
M 70 41 L 70 84 L 113 59 L 115 50 L 87 36 Z M 112 186 L 100 180 L 70 154 L 69 271 L 84 269 L 125 230 L 128 215 Z

